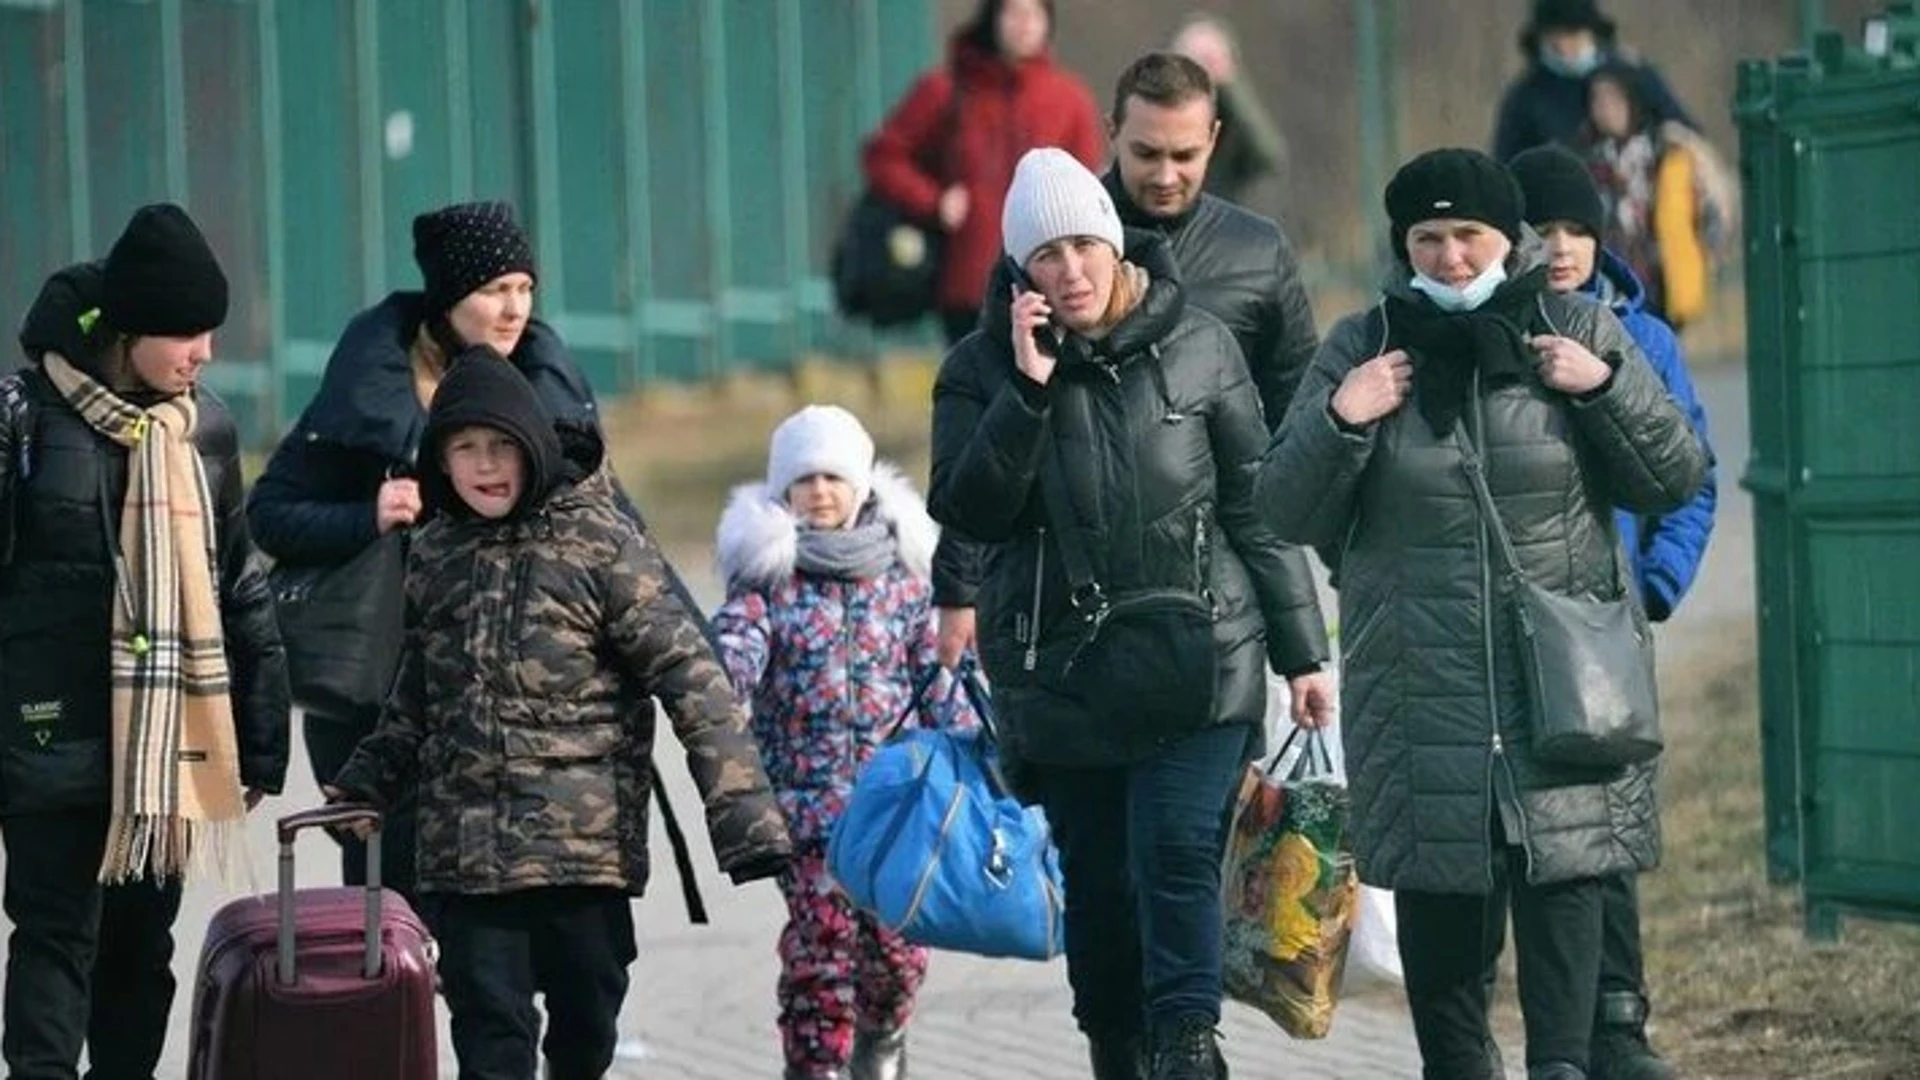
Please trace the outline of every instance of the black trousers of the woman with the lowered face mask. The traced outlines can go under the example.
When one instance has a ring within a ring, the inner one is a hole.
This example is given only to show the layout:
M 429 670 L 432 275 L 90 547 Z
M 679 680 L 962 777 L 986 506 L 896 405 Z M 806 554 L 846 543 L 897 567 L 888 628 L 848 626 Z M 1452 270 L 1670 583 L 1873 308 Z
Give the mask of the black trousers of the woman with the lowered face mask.
M 1425 1080 L 1494 1074 L 1488 990 L 1505 947 L 1509 909 L 1526 1065 L 1588 1065 L 1599 997 L 1603 878 L 1526 884 L 1524 851 L 1498 844 L 1492 871 L 1488 896 L 1394 890 L 1400 963 Z

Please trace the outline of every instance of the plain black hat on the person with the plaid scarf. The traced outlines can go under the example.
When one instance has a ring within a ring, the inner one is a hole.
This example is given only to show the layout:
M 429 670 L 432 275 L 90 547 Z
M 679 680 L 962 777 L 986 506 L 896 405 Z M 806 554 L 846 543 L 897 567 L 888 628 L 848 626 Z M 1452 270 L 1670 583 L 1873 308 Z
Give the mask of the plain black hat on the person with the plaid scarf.
M 108 252 L 100 313 L 123 334 L 190 338 L 227 321 L 227 275 L 184 209 L 142 206 Z

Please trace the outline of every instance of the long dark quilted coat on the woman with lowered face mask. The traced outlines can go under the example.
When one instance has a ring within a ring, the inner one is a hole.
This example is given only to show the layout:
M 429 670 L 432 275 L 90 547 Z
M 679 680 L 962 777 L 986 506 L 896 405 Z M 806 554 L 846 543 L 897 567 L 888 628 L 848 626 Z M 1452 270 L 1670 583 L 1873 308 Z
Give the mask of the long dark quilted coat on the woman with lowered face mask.
M 1496 817 L 1524 844 L 1536 884 L 1651 867 L 1659 826 L 1645 771 L 1532 753 L 1515 628 L 1494 592 L 1500 563 L 1459 444 L 1436 436 L 1411 400 L 1357 432 L 1331 413 L 1346 373 L 1398 344 L 1382 315 L 1334 327 L 1260 473 L 1261 517 L 1336 553 L 1361 878 L 1486 892 Z M 1534 315 L 1530 332 L 1582 342 L 1615 367 L 1611 380 L 1580 400 L 1534 375 L 1484 384 L 1455 432 L 1484 432 L 1488 484 L 1530 580 L 1620 596 L 1613 507 L 1680 507 L 1707 454 L 1611 311 L 1542 294 Z

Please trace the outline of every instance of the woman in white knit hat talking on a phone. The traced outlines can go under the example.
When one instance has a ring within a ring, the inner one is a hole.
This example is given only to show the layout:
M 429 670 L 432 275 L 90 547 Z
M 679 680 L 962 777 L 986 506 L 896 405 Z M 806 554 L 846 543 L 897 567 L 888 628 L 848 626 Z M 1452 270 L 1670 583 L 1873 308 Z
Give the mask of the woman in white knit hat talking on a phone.
M 933 388 L 929 503 L 995 546 L 979 651 L 1006 753 L 1060 844 L 1094 1076 L 1137 1080 L 1144 1063 L 1213 1080 L 1219 863 L 1267 665 L 1296 721 L 1331 711 L 1311 567 L 1254 513 L 1260 396 L 1227 327 L 1185 302 L 1165 240 L 1123 233 L 1100 181 L 1054 148 L 1021 158 L 1000 233 L 1000 300 Z M 1119 651 L 1150 603 L 1192 619 Z M 1075 665 L 1154 676 L 1104 701 Z M 1162 675 L 1192 696 L 1152 703 Z

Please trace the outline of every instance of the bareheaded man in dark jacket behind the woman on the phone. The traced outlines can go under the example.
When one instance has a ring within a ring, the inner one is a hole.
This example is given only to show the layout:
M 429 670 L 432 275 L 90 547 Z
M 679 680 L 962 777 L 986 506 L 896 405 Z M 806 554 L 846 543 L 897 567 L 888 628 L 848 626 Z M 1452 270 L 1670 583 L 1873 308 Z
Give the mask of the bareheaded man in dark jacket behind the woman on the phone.
M 1275 430 L 1319 336 L 1286 233 L 1204 192 L 1219 135 L 1213 83 L 1185 56 L 1142 56 L 1114 88 L 1110 125 L 1116 165 L 1106 173 L 1106 188 L 1119 219 L 1165 236 L 1188 302 L 1225 323 L 1240 344 L 1267 430 Z M 954 528 L 941 534 L 933 601 L 941 609 L 943 663 L 958 661 L 973 642 L 981 557 L 981 548 Z

